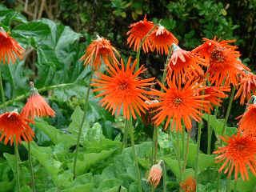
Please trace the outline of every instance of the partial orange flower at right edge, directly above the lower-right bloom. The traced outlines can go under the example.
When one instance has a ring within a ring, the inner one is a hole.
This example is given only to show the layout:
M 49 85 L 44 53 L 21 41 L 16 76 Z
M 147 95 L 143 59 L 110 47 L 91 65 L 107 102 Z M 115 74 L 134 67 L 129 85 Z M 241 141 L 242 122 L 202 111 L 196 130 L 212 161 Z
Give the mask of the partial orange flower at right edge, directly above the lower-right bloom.
M 238 132 L 256 136 L 256 104 L 248 104 L 246 112 L 238 118 L 241 118 L 238 122 Z

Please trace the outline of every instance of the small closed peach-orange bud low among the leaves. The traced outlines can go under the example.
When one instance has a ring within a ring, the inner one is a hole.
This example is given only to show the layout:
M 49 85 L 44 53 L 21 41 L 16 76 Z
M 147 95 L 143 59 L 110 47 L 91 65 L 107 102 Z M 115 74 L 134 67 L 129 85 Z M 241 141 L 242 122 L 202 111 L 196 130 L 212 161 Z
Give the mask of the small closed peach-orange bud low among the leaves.
M 162 167 L 160 163 L 161 161 L 151 167 L 149 177 L 147 178 L 147 182 L 149 182 L 151 186 L 154 186 L 154 188 L 158 186 L 162 177 Z

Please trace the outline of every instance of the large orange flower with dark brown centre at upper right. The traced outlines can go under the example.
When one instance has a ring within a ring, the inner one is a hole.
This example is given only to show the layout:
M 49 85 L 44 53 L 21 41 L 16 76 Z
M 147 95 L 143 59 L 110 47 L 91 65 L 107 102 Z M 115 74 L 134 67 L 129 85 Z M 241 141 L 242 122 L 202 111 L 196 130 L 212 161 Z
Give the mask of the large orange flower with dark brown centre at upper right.
M 230 46 L 229 42 L 233 41 L 216 41 L 203 38 L 206 42 L 198 46 L 192 52 L 199 54 L 206 59 L 209 68 L 206 74 L 209 74 L 211 84 L 222 86 L 224 79 L 225 85 L 232 83 L 238 86 L 239 74 L 243 74 L 242 70 L 250 70 L 238 60 L 240 54 L 236 46 Z

